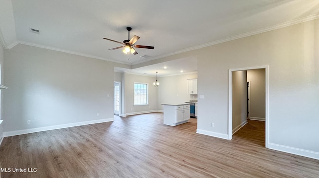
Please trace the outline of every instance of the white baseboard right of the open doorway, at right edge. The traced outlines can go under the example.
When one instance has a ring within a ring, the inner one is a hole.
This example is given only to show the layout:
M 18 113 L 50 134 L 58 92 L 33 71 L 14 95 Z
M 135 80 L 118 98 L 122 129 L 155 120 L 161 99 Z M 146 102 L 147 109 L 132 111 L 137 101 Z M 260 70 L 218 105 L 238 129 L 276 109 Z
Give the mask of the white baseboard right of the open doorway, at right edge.
M 289 147 L 289 146 L 285 146 L 285 145 L 279 145 L 279 144 L 275 144 L 275 143 L 269 143 L 268 148 L 272 149 L 272 150 L 277 150 L 277 151 L 281 151 L 281 152 L 291 153 L 291 154 L 319 160 L 319 152 L 303 150 L 303 149 Z

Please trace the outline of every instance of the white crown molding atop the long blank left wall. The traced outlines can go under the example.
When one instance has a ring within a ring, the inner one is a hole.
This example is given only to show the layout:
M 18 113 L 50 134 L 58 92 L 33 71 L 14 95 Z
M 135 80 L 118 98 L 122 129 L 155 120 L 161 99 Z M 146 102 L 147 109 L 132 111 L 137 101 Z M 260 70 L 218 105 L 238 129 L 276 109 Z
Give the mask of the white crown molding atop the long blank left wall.
M 110 59 L 101 58 L 101 57 L 98 57 L 98 56 L 87 55 L 87 54 L 84 54 L 84 53 L 78 53 L 78 52 L 75 52 L 75 51 L 64 50 L 64 49 L 55 48 L 55 47 L 51 47 L 51 46 L 39 45 L 39 44 L 36 44 L 36 43 L 29 43 L 29 42 L 26 42 L 26 41 L 18 41 L 18 43 L 19 44 L 23 44 L 23 45 L 34 46 L 34 47 L 38 47 L 38 48 L 49 49 L 49 50 L 53 50 L 53 51 L 58 51 L 58 52 L 63 52 L 63 53 L 68 53 L 68 54 L 74 54 L 74 55 L 78 55 L 78 56 L 93 58 L 93 59 L 99 59 L 99 60 L 104 60 L 104 61 L 109 61 L 109 62 L 114 62 L 114 63 L 121 63 L 121 64 L 126 64 L 126 65 L 131 65 L 129 63 L 125 63 L 125 62 L 121 62 L 121 61 L 110 60 Z

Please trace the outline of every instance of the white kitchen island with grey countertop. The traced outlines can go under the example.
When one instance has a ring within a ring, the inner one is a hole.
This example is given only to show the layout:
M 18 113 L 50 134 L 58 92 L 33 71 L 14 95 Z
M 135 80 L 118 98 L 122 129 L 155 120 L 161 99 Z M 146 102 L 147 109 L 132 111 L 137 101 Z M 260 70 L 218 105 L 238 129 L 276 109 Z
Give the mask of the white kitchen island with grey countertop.
M 183 104 L 161 104 L 164 105 L 164 124 L 175 126 L 189 121 L 190 105 Z

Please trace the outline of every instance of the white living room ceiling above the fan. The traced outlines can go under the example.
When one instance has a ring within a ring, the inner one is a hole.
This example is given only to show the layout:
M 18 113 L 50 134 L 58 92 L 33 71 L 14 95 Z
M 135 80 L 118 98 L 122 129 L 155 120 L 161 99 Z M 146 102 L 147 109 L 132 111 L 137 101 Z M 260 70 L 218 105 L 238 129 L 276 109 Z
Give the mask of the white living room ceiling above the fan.
M 1 0 L 0 41 L 9 49 L 21 43 L 132 65 L 318 13 L 318 0 Z M 155 49 L 136 48 L 130 60 L 121 49 L 109 51 L 121 44 L 103 38 L 122 42 L 127 26 L 141 37 L 136 44 Z

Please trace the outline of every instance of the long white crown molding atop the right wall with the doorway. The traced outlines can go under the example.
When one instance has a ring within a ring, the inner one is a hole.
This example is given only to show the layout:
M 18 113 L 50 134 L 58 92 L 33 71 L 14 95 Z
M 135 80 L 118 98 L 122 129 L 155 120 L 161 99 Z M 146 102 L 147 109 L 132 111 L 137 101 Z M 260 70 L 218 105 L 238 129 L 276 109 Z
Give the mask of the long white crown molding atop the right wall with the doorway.
M 153 58 L 150 58 L 150 59 L 145 60 L 143 62 L 148 62 L 148 61 L 152 61 L 152 60 L 156 60 L 156 59 L 160 59 L 160 58 L 164 58 L 164 57 L 168 57 L 168 56 L 172 56 L 172 55 L 176 55 L 176 54 L 180 54 L 180 53 L 184 53 L 184 52 L 188 52 L 188 51 L 204 48 L 204 47 L 212 46 L 212 45 L 215 45 L 215 44 L 220 44 L 220 43 L 224 43 L 224 42 L 227 42 L 227 41 L 232 41 L 232 40 L 236 40 L 236 39 L 240 39 L 240 38 L 244 38 L 244 37 L 248 37 L 248 36 L 252 36 L 252 35 L 257 35 L 257 34 L 268 32 L 268 31 L 272 31 L 272 30 L 277 30 L 277 29 L 280 29 L 280 28 L 296 25 L 296 24 L 299 24 L 299 23 L 307 22 L 307 21 L 310 21 L 310 20 L 315 20 L 315 19 L 318 19 L 318 18 L 319 18 L 319 14 L 309 15 L 307 17 L 298 18 L 298 19 L 295 19 L 295 20 L 291 20 L 291 21 L 288 21 L 288 22 L 280 23 L 280 24 L 273 25 L 273 26 L 270 26 L 270 27 L 266 27 L 266 28 L 262 28 L 262 29 L 258 29 L 258 30 L 254 30 L 254 31 L 250 31 L 250 32 L 247 32 L 247 33 L 242 33 L 242 34 L 235 35 L 235 36 L 232 36 L 232 37 L 229 37 L 229 38 L 224 38 L 224 39 L 220 39 L 220 40 L 211 41 L 209 43 L 193 46 L 193 47 L 190 47 L 190 48 L 185 48 L 185 49 L 182 49 L 182 50 L 179 50 L 179 51 L 176 51 L 176 52 L 172 52 L 172 53 L 169 53 L 169 54 L 166 54 L 166 55 L 153 57 Z M 136 64 L 140 64 L 140 63 L 136 63 Z M 136 65 L 136 64 L 132 64 L 132 65 Z

